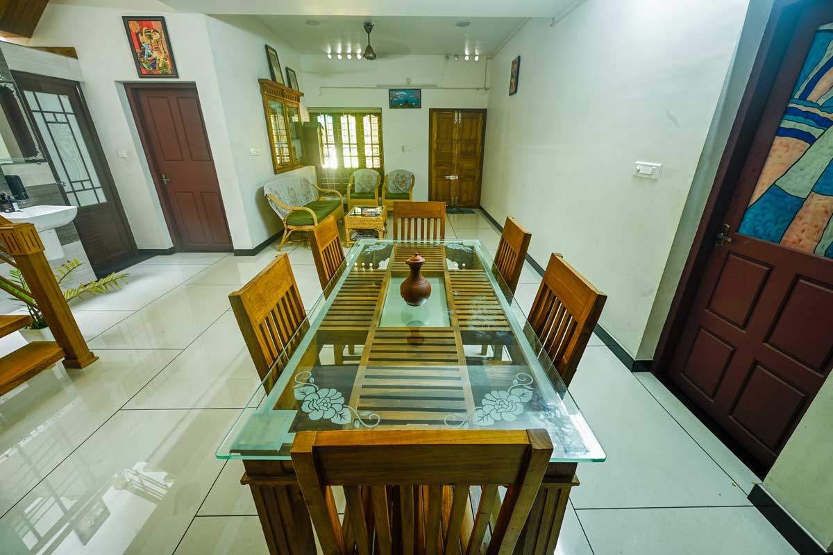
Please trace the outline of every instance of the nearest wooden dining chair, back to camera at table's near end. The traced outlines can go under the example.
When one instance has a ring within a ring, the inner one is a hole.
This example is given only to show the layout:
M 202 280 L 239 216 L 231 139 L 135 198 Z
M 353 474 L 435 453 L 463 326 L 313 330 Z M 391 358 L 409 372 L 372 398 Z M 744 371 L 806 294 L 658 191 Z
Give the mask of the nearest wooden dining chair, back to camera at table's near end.
M 299 432 L 292 464 L 323 553 L 481 553 L 506 486 L 486 553 L 508 555 L 551 453 L 541 429 Z M 344 488 L 343 525 L 332 486 Z

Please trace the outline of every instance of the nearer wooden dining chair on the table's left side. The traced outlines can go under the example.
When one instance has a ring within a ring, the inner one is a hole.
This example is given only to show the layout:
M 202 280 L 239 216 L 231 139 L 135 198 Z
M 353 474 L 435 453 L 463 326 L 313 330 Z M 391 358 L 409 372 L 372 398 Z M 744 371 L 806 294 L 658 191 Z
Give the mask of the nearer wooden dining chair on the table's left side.
M 265 379 L 279 358 L 286 364 L 300 339 L 296 332 L 307 318 L 289 256 L 277 255 L 242 289 L 228 295 L 228 300 L 257 374 Z M 267 390 L 272 389 L 277 375 L 270 376 Z

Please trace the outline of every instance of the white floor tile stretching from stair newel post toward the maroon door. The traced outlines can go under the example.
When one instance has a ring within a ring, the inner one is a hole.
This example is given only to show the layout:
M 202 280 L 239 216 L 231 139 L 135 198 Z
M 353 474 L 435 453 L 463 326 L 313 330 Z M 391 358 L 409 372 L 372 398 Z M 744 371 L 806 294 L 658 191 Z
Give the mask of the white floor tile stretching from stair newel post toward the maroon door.
M 185 349 L 229 310 L 229 285 L 180 285 L 90 341 L 105 349 Z

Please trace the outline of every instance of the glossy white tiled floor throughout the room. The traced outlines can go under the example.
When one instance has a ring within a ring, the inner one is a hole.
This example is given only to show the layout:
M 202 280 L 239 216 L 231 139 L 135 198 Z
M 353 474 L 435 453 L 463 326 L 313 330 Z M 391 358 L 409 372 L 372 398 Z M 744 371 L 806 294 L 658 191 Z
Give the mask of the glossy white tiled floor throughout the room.
M 446 235 L 494 254 L 483 216 L 448 223 Z M 160 256 L 131 268 L 122 291 L 74 305 L 101 359 L 0 398 L 0 553 L 267 553 L 242 463 L 214 451 L 257 385 L 227 295 L 275 248 Z M 311 252 L 285 250 L 311 305 Z M 526 265 L 524 309 L 540 280 Z M 0 350 L 19 344 L 13 334 Z M 596 336 L 571 392 L 608 459 L 580 466 L 557 553 L 795 553 L 746 500 L 756 476 Z

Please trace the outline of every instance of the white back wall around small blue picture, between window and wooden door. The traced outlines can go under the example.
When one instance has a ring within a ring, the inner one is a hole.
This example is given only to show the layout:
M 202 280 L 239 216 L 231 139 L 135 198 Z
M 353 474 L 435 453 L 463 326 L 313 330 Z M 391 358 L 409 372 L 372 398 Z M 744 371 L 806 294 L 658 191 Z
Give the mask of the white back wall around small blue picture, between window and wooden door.
M 380 57 L 328 60 L 321 54 L 302 55 L 307 108 L 382 108 L 385 171 L 405 169 L 415 174 L 414 200 L 428 199 L 428 111 L 430 108 L 485 108 L 486 60 L 455 62 L 442 56 Z M 411 79 L 407 84 L 406 79 Z M 422 108 L 391 110 L 387 88 L 422 88 Z

